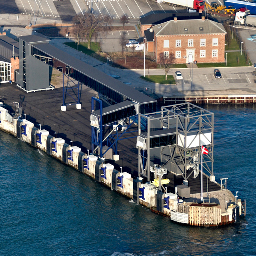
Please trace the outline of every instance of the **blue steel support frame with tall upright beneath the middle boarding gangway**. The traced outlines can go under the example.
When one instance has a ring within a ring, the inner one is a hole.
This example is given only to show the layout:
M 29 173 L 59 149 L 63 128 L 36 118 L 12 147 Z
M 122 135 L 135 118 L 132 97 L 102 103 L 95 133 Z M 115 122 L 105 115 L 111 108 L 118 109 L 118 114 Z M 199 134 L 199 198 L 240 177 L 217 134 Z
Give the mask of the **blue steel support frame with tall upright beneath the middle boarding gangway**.
M 94 152 L 94 146 L 98 146 L 100 148 L 100 157 L 103 157 L 102 153 L 102 148 L 103 148 L 103 135 L 102 135 L 102 101 L 100 99 L 97 99 L 95 97 L 91 97 L 91 112 L 94 112 L 94 101 L 99 102 L 100 104 L 100 116 L 99 116 L 99 128 L 91 126 L 91 141 L 92 141 L 92 152 Z M 111 135 L 108 136 L 106 140 L 106 145 L 108 146 L 108 149 L 104 152 L 106 154 L 110 148 L 113 149 L 113 152 L 115 155 L 117 155 L 117 144 L 118 141 L 120 140 L 126 140 L 126 139 L 131 139 L 131 138 L 137 138 L 137 136 L 131 136 L 131 137 L 126 137 L 126 138 L 121 138 L 124 134 L 132 133 L 132 132 L 138 132 L 138 130 L 132 130 L 128 131 L 128 129 L 136 123 L 138 120 L 138 115 L 133 116 L 134 120 L 130 119 L 130 124 L 126 126 L 126 130 L 123 131 L 122 133 L 118 133 L 118 129 L 116 128 L 116 132 L 112 133 Z M 107 126 L 107 125 L 106 125 Z M 120 125 L 121 127 L 122 125 Z

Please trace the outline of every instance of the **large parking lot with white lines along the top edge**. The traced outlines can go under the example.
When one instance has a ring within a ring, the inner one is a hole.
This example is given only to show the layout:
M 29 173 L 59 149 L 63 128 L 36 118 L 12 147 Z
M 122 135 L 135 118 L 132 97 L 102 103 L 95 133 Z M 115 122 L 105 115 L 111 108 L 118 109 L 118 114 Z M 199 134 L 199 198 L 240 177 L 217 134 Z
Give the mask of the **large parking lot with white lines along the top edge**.
M 217 2 L 223 3 L 220 0 Z M 10 12 L 8 5 L 12 6 Z M 156 3 L 154 0 L 1 0 L 0 3 L 0 12 L 3 13 L 61 18 L 62 21 L 72 20 L 75 14 L 88 10 L 98 15 L 109 15 L 113 20 L 126 14 L 132 20 L 150 13 L 165 13 L 170 10 L 182 12 L 184 8 Z

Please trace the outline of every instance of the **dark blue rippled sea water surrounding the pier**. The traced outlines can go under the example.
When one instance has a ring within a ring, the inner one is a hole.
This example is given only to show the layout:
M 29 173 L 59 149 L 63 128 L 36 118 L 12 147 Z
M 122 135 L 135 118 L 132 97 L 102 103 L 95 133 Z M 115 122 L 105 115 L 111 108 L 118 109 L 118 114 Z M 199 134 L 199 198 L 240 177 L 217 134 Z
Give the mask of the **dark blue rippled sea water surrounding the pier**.
M 172 223 L 0 131 L 0 255 L 256 255 L 256 108 L 214 112 L 214 170 L 246 199 L 227 227 Z

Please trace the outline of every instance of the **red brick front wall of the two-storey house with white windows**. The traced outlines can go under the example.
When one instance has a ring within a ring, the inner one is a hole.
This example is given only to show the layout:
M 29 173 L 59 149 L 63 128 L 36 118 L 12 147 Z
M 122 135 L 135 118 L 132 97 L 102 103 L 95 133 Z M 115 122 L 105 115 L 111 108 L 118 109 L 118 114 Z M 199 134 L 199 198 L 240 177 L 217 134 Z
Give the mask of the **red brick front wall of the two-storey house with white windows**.
M 212 45 L 212 39 L 218 38 L 218 45 Z M 176 40 L 181 40 L 181 47 L 176 47 Z M 193 46 L 188 46 L 188 39 L 193 39 Z M 205 39 L 205 46 L 200 46 L 200 39 Z M 169 40 L 169 48 L 163 47 L 163 40 Z M 195 35 L 164 35 L 155 37 L 154 54 L 157 56 L 159 62 L 160 53 L 169 51 L 175 56 L 176 51 L 181 51 L 181 58 L 177 58 L 176 63 L 186 63 L 187 50 L 192 49 L 195 51 L 193 60 L 198 63 L 203 62 L 225 62 L 225 34 L 195 34 Z M 212 50 L 218 50 L 218 56 L 212 57 Z M 205 57 L 200 57 L 200 50 L 205 50 Z

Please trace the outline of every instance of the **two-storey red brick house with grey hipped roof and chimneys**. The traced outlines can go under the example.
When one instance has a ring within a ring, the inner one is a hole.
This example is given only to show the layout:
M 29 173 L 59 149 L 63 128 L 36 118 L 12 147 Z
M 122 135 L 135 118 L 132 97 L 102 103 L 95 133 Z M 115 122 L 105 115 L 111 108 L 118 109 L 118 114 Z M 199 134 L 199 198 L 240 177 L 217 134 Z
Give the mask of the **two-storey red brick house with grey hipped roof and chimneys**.
M 191 61 L 225 62 L 225 34 L 222 24 L 210 19 L 174 20 L 153 26 L 147 33 L 153 33 L 153 52 L 160 61 L 174 54 L 175 63 Z

